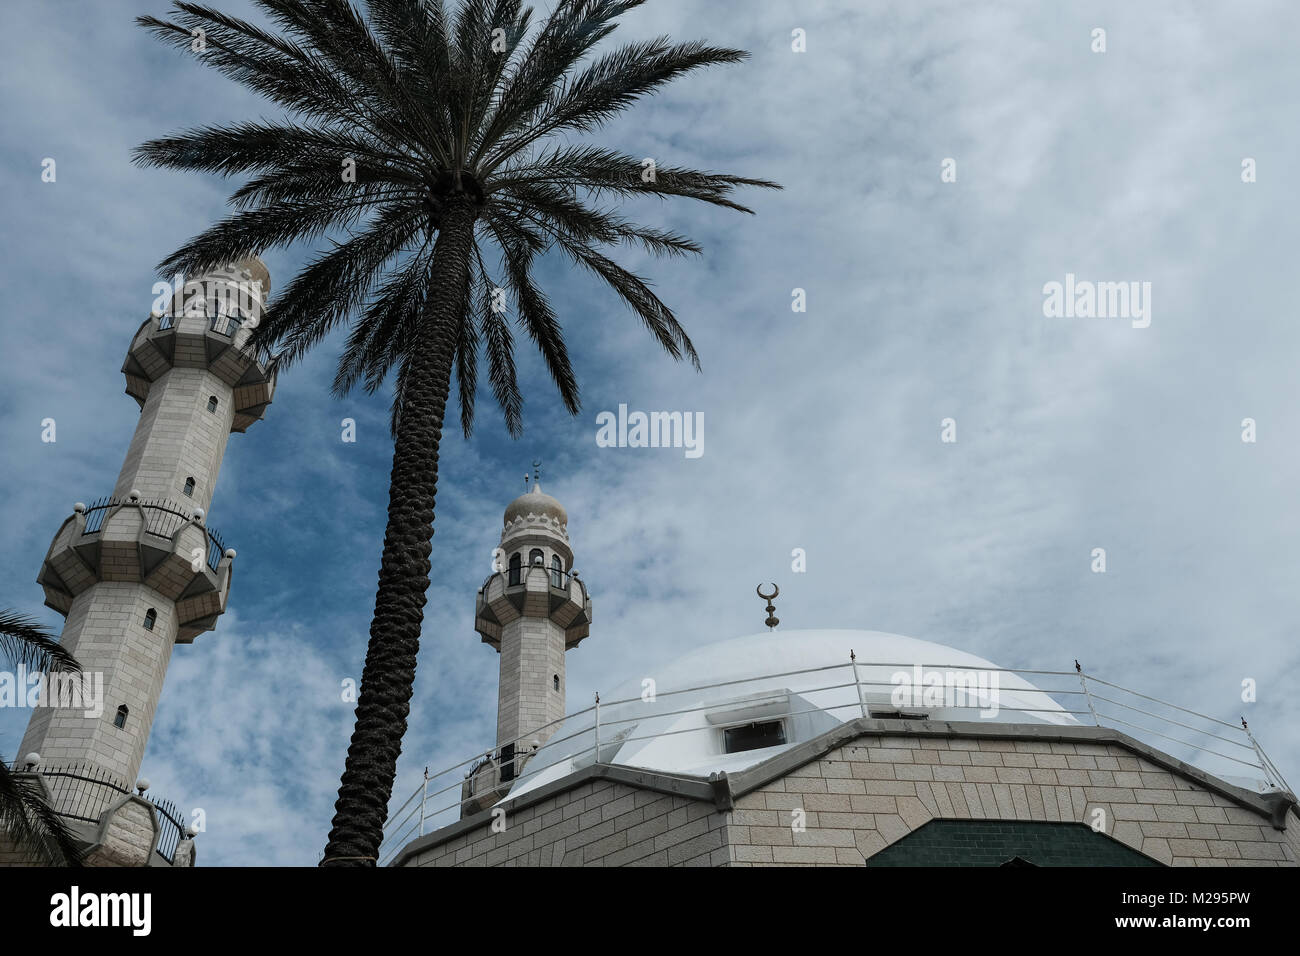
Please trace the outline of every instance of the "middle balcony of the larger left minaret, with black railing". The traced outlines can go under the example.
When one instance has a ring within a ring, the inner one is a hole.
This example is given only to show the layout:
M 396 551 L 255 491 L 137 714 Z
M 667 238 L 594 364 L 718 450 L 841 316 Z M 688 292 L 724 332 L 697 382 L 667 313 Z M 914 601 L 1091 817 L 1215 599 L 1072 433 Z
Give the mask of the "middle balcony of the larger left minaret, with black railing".
M 211 631 L 226 609 L 234 550 L 203 523 L 202 509 L 174 501 L 103 498 L 78 503 L 55 535 L 36 581 L 46 606 L 68 614 L 100 581 L 134 581 L 176 604 L 177 643 Z

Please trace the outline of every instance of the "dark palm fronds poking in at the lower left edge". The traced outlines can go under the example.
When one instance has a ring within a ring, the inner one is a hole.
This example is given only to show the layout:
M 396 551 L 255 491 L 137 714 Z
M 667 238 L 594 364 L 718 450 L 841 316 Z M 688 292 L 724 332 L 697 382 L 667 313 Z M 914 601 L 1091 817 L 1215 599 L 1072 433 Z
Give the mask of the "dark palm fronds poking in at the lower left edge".
M 0 657 L 34 671 L 81 672 L 58 640 L 31 618 L 0 610 Z M 0 757 L 0 834 L 51 866 L 79 866 L 82 848 L 64 818 L 46 803 L 44 791 L 20 778 Z

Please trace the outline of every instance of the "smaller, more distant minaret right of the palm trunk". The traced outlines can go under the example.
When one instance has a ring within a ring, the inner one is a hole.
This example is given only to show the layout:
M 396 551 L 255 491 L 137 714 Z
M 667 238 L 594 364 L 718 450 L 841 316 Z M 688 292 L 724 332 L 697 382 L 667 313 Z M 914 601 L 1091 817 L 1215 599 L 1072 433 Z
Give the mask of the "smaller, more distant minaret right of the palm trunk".
M 573 572 L 568 514 L 534 481 L 506 509 L 497 567 L 478 591 L 474 630 L 500 652 L 500 780 L 517 753 L 543 744 L 564 717 L 564 652 L 592 630 L 592 598 Z

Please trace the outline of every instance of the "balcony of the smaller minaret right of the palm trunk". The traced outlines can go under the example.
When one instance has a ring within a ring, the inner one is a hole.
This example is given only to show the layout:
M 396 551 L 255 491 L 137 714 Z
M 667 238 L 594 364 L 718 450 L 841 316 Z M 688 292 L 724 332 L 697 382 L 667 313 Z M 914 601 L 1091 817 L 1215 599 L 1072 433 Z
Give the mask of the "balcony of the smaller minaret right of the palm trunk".
M 474 602 L 474 630 L 500 650 L 502 628 L 519 618 L 547 618 L 564 631 L 564 649 L 592 632 L 592 597 L 571 571 L 542 564 L 498 571 L 484 581 Z

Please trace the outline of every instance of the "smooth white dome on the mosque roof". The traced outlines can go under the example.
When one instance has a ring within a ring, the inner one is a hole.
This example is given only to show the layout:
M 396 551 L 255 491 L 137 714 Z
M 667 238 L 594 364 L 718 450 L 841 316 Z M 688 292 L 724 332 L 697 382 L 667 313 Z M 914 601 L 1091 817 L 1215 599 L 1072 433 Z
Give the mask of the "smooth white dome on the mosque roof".
M 699 648 L 602 693 L 601 762 L 693 777 L 760 763 L 862 717 L 850 650 L 858 661 L 862 698 L 881 715 L 1078 723 L 1023 678 L 944 644 L 880 631 L 764 631 Z M 941 684 L 927 695 L 924 684 L 936 676 L 972 683 L 966 684 L 968 692 L 958 684 L 945 695 Z M 654 682 L 653 688 L 646 680 Z M 916 680 L 920 696 L 910 700 L 906 687 Z M 647 700 L 651 689 L 654 700 Z M 588 710 L 566 719 L 524 767 L 510 797 L 590 765 L 594 717 Z M 784 743 L 727 752 L 727 726 L 777 719 Z

